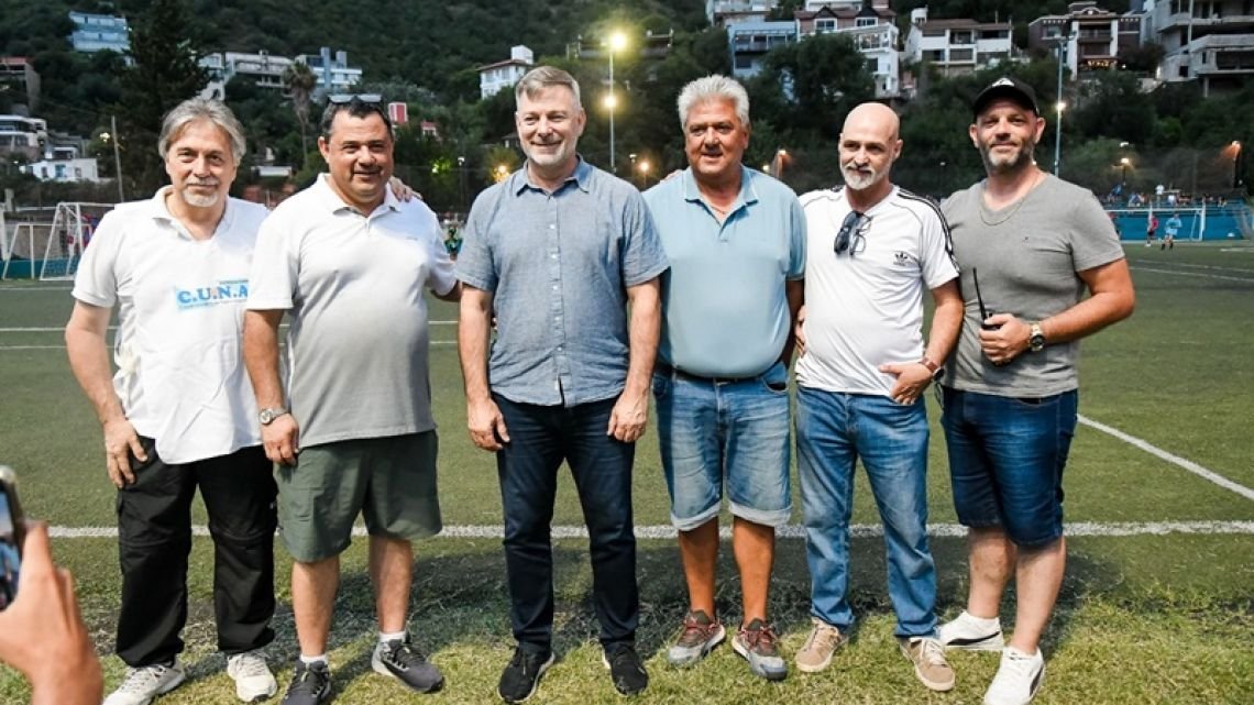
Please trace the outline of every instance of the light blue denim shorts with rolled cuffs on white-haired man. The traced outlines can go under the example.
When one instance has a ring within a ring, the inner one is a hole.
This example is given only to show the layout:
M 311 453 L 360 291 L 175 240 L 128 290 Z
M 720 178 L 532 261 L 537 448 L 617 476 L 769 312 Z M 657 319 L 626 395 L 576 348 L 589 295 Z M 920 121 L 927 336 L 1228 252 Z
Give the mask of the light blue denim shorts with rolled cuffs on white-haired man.
M 742 380 L 660 371 L 653 396 L 675 528 L 692 531 L 717 517 L 725 488 L 732 516 L 788 523 L 791 429 L 782 363 Z

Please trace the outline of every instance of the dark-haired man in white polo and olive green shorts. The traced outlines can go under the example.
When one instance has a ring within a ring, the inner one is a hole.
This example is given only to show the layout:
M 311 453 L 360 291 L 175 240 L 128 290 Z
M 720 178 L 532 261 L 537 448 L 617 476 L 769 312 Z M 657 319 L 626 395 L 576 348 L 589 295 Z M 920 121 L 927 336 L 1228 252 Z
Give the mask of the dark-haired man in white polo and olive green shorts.
M 379 618 L 371 667 L 419 692 L 444 685 L 405 625 L 411 541 L 441 528 L 424 296 L 456 301 L 461 287 L 435 213 L 387 189 L 393 134 L 380 97 L 331 97 L 319 149 L 330 173 L 257 236 L 245 325 L 261 435 L 277 464 L 280 536 L 295 558 L 301 655 L 285 705 L 331 699 L 339 556 L 359 513 Z

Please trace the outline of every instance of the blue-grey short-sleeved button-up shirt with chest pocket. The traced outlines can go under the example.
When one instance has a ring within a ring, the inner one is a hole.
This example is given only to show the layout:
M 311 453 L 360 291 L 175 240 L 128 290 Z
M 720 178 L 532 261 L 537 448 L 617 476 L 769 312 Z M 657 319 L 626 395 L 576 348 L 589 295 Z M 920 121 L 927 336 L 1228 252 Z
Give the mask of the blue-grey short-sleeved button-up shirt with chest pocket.
M 627 380 L 627 287 L 666 271 L 645 199 L 579 159 L 549 193 L 525 167 L 470 208 L 456 275 L 493 292 L 492 390 L 522 404 L 611 399 Z

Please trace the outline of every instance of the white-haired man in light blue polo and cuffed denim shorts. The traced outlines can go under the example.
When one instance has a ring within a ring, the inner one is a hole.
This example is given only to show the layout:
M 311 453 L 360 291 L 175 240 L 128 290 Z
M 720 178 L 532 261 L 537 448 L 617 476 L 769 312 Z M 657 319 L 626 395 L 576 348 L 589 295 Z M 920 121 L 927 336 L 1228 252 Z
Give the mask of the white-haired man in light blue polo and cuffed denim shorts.
M 755 675 L 780 680 L 788 667 L 766 600 L 775 527 L 793 513 L 788 364 L 805 213 L 791 189 L 740 163 L 750 132 L 744 87 L 697 79 L 678 109 L 688 168 L 645 194 L 671 262 L 653 395 L 690 602 L 667 659 L 695 664 L 725 637 L 714 595 L 726 483 L 744 600 L 732 647 Z

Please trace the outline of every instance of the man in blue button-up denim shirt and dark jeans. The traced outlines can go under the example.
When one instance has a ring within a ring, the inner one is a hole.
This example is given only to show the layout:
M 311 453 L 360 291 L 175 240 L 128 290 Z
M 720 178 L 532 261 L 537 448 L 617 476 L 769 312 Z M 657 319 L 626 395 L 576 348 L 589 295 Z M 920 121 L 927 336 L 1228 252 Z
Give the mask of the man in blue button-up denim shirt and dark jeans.
M 527 164 L 475 199 L 458 258 L 468 425 L 497 453 L 518 641 L 498 694 L 525 700 L 553 664 L 549 524 L 566 460 L 588 526 L 604 664 L 631 695 L 648 684 L 635 649 L 631 475 L 666 256 L 640 192 L 576 153 L 586 115 L 574 79 L 540 66 L 514 93 Z

